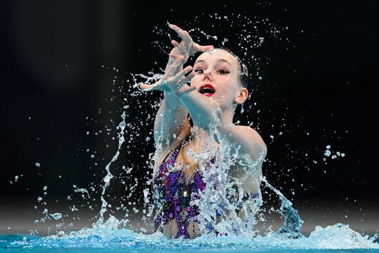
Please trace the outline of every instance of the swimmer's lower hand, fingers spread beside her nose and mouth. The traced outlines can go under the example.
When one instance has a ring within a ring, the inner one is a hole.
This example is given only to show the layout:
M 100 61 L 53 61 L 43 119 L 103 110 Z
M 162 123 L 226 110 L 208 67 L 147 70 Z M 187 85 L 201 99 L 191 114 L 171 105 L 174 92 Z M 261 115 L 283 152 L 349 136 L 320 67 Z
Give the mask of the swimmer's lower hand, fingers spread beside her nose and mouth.
M 178 71 L 182 66 L 183 56 L 179 56 L 175 59 L 174 63 L 163 74 L 163 77 L 154 84 L 141 84 L 139 87 L 143 91 L 147 90 L 161 90 L 165 92 L 172 92 L 176 97 L 181 97 L 182 94 L 192 92 L 196 90 L 196 87 L 190 87 L 185 85 L 192 77 L 195 76 L 195 72 L 191 72 L 185 77 L 185 74 L 192 71 L 192 66 L 187 66 L 183 70 Z

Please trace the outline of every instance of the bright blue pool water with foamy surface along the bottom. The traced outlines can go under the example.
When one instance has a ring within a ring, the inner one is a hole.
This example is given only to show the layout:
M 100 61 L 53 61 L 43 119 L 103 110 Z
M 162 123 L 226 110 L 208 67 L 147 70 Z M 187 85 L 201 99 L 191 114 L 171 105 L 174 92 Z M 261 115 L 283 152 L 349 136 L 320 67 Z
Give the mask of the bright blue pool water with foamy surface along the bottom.
M 300 235 L 298 239 L 272 232 L 254 238 L 207 234 L 193 240 L 172 240 L 161 233 L 118 229 L 114 227 L 115 222 L 113 217 L 101 227 L 83 228 L 64 235 L 2 235 L 0 252 L 379 252 L 377 236 L 362 236 L 341 223 L 318 226 L 309 236 Z

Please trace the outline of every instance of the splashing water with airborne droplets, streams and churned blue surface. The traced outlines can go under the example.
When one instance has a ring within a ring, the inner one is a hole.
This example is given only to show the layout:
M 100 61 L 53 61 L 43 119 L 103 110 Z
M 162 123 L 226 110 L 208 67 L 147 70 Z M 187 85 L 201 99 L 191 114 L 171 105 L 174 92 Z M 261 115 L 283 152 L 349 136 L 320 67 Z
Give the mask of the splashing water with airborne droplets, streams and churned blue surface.
M 229 19 L 229 17 L 221 17 L 220 15 L 215 15 L 215 19 Z M 258 23 L 268 22 L 268 20 L 263 20 Z M 202 30 L 195 28 L 192 31 L 197 31 L 200 34 L 203 34 L 205 38 L 212 37 L 207 35 L 207 32 L 203 32 Z M 257 30 L 254 30 L 256 32 Z M 271 29 L 272 34 L 277 36 L 278 30 Z M 256 32 L 256 34 L 252 34 L 247 32 L 245 34 L 240 34 L 242 37 L 241 41 L 245 41 L 246 43 L 252 43 L 254 47 L 258 48 L 266 43 L 265 37 L 262 37 Z M 195 35 L 196 38 L 196 35 Z M 215 40 L 218 40 L 218 37 L 212 37 Z M 222 45 L 227 45 L 229 43 L 229 39 L 223 38 Z M 163 49 L 163 47 L 162 47 Z M 261 61 L 261 58 L 258 56 L 250 57 L 249 54 L 246 54 L 249 48 L 246 45 L 240 44 L 240 50 L 242 50 L 243 54 L 249 59 L 249 63 L 256 63 L 258 66 L 258 62 Z M 254 64 L 253 64 L 254 65 Z M 258 68 L 259 70 L 259 68 Z M 258 80 L 262 78 L 259 77 L 259 71 L 256 72 L 256 76 Z M 149 72 L 149 75 L 146 74 L 135 74 L 133 76 L 134 87 L 139 85 L 139 82 L 136 79 L 142 78 L 144 79 L 143 83 L 152 83 L 158 80 L 161 77 L 161 74 L 154 74 L 154 72 Z M 141 92 L 132 92 L 130 94 L 133 96 L 143 96 Z M 159 102 L 154 103 L 151 106 L 152 109 L 156 109 L 159 105 Z M 244 109 L 241 108 L 241 113 L 243 113 Z M 258 111 L 259 112 L 259 111 Z M 113 174 L 110 171 L 110 166 L 120 154 L 121 145 L 123 145 L 125 141 L 125 126 L 127 123 L 125 122 L 126 114 L 123 112 L 121 115 L 123 120 L 119 123 L 118 129 L 120 132 L 118 134 L 119 145 L 116 154 L 112 157 L 112 160 L 105 166 L 105 171 L 107 174 L 103 178 L 104 185 L 102 187 L 101 192 L 101 210 L 99 212 L 99 219 L 93 225 L 92 228 L 83 228 L 77 232 L 63 232 L 59 231 L 57 234 L 52 236 L 47 236 L 44 238 L 36 238 L 34 236 L 25 236 L 22 238 L 13 239 L 12 243 L 10 240 L 3 240 L 0 238 L 0 243 L 6 241 L 6 247 L 17 247 L 17 248 L 39 248 L 39 247 L 112 247 L 112 248 L 128 248 L 128 249 L 170 249 L 170 250 L 178 250 L 178 249 L 187 249 L 187 248 L 199 248 L 199 249 L 208 249 L 208 248 L 287 248 L 287 249 L 378 249 L 378 243 L 374 243 L 377 239 L 377 235 L 369 238 L 368 236 L 362 236 L 358 232 L 354 232 L 349 228 L 349 225 L 344 224 L 336 224 L 331 225 L 325 228 L 316 227 L 314 232 L 311 232 L 310 236 L 303 236 L 300 234 L 300 228 L 303 224 L 303 221 L 300 219 L 298 212 L 292 207 L 291 201 L 289 201 L 280 191 L 274 188 L 265 177 L 260 176 L 260 174 L 256 170 L 256 164 L 250 163 L 246 168 L 246 174 L 254 174 L 258 176 L 260 180 L 265 183 L 265 185 L 274 191 L 280 199 L 280 213 L 283 214 L 285 222 L 283 227 L 276 232 L 267 232 L 264 236 L 258 234 L 254 230 L 254 225 L 258 223 L 256 219 L 256 214 L 260 212 L 260 206 L 263 204 L 262 196 L 260 198 L 243 202 L 242 195 L 240 192 L 231 192 L 230 188 L 232 188 L 232 184 L 229 181 L 228 177 L 225 176 L 229 173 L 229 168 L 231 165 L 236 163 L 236 159 L 233 156 L 230 156 L 230 147 L 229 145 L 225 145 L 225 143 L 221 143 L 218 147 L 218 159 L 217 163 L 211 165 L 210 167 L 201 166 L 200 170 L 203 172 L 205 177 L 205 181 L 207 181 L 207 188 L 202 193 L 203 197 L 201 198 L 203 201 L 197 201 L 196 205 L 198 205 L 201 210 L 201 215 L 199 216 L 202 236 L 192 240 L 185 241 L 183 239 L 178 240 L 168 240 L 165 238 L 163 234 L 160 232 L 156 232 L 154 234 L 142 234 L 134 232 L 133 230 L 127 230 L 125 227 L 125 223 L 127 223 L 127 219 L 121 219 L 120 221 L 116 219 L 115 216 L 110 215 L 110 218 L 107 221 L 104 221 L 104 214 L 107 212 L 108 203 L 105 200 L 105 192 L 107 188 L 110 186 L 111 180 L 114 178 Z M 150 117 L 150 114 L 149 114 Z M 217 132 L 214 132 L 214 135 L 217 136 Z M 212 135 L 208 145 L 212 145 L 211 141 L 215 141 L 216 138 Z M 159 150 L 159 147 L 156 147 Z M 330 148 L 330 147 L 329 147 Z M 329 148 L 327 148 L 329 150 Z M 216 149 L 213 149 L 216 150 Z M 215 153 L 201 153 L 195 154 L 192 150 L 188 150 L 187 153 L 189 156 L 192 156 L 194 159 L 198 159 L 198 161 L 209 160 L 212 156 L 216 155 Z M 238 154 L 238 153 L 237 153 Z M 338 155 L 338 153 L 336 153 Z M 329 154 L 330 155 L 330 154 Z M 344 156 L 345 154 L 340 154 L 340 156 Z M 156 154 L 154 154 L 153 159 L 157 159 Z M 37 168 L 39 168 L 40 164 L 35 164 Z M 153 164 L 150 161 L 150 168 L 153 167 Z M 132 168 L 128 168 L 130 172 Z M 137 183 L 137 182 L 136 182 Z M 237 182 L 238 183 L 238 182 Z M 217 185 L 215 188 L 214 186 Z M 132 188 L 131 186 L 129 191 L 129 196 L 132 196 Z M 45 189 L 44 189 L 45 190 Z M 81 192 L 88 194 L 88 190 L 83 188 L 77 189 L 75 188 L 74 192 Z M 143 219 L 147 219 L 146 217 L 152 216 L 154 211 L 154 205 L 152 205 L 149 194 L 151 192 L 148 188 L 143 190 L 143 200 L 144 200 L 144 208 L 148 207 L 148 212 L 143 216 Z M 231 202 L 229 199 L 225 198 L 227 194 L 236 196 L 236 201 Z M 42 198 L 41 198 L 42 201 Z M 236 216 L 234 210 L 238 205 L 242 205 L 240 208 L 245 213 L 245 219 L 241 219 Z M 156 211 L 156 209 L 155 209 Z M 221 214 L 221 221 L 216 221 L 214 218 L 216 212 Z M 48 211 L 44 212 L 48 215 Z M 54 219 L 61 219 L 62 214 L 55 213 L 50 214 Z M 219 234 L 227 234 L 227 236 L 216 236 L 215 233 L 209 233 L 209 228 L 213 230 L 217 230 Z M 10 227 L 8 228 L 10 230 Z M 8 241 L 7 241 L 8 240 Z M 3 245 L 3 244 L 1 244 Z

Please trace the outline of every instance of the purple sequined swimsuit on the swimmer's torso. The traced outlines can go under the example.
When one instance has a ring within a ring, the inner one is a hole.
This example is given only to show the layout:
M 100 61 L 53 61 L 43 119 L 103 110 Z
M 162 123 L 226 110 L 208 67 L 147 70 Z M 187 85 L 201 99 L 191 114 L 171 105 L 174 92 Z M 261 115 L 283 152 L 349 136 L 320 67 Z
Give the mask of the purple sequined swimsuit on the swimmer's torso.
M 197 208 L 189 203 L 200 198 L 199 192 L 204 190 L 205 183 L 198 170 L 186 170 L 178 160 L 181 148 L 187 143 L 187 139 L 181 141 L 154 176 L 154 201 L 161 205 L 154 220 L 155 227 L 171 239 L 198 236 Z

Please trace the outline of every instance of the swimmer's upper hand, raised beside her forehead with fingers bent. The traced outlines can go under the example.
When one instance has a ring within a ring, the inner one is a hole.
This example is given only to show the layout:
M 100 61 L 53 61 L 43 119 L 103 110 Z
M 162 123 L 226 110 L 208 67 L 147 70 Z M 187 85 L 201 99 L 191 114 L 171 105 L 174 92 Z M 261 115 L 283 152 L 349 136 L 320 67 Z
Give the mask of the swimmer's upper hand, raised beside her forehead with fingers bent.
M 178 43 L 176 40 L 171 41 L 175 48 L 170 52 L 170 57 L 177 58 L 179 55 L 183 55 L 183 62 L 185 63 L 192 54 L 196 52 L 206 52 L 214 48 L 213 45 L 198 45 L 198 43 L 192 40 L 192 37 L 189 36 L 187 31 L 178 26 L 171 24 L 170 28 L 177 32 L 182 39 L 181 43 Z

